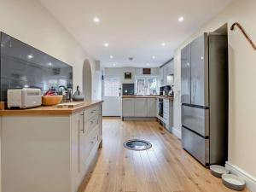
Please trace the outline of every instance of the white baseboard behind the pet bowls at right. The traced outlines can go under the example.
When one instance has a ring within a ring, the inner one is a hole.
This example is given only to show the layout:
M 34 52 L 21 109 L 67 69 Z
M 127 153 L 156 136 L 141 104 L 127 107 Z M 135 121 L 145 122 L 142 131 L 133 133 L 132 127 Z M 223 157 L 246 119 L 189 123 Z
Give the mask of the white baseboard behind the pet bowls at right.
M 247 189 L 250 189 L 252 192 L 256 192 L 256 177 L 253 177 L 249 173 L 243 171 L 238 166 L 231 164 L 229 161 L 226 161 L 225 167 L 230 170 L 231 173 L 242 177 L 247 184 Z

